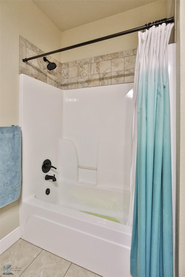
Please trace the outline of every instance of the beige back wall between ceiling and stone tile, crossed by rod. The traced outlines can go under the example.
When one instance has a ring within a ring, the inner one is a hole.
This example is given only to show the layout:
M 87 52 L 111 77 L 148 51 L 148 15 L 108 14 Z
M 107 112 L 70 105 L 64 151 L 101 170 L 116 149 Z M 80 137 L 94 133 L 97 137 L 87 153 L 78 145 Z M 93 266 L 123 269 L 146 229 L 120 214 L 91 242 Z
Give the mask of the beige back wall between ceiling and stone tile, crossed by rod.
M 143 26 L 145 23 L 165 17 L 166 1 L 156 1 L 64 31 L 62 32 L 62 47 Z M 138 35 L 136 32 L 62 52 L 62 63 L 133 49 L 137 48 L 137 45 Z

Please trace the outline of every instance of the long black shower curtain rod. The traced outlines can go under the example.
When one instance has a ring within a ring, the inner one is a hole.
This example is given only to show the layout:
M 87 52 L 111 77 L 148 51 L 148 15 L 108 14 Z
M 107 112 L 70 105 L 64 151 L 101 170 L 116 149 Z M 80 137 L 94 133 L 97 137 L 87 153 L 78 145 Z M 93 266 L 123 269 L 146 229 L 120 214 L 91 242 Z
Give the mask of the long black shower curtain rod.
M 70 49 L 73 49 L 73 48 L 77 48 L 77 47 L 80 47 L 80 46 L 84 46 L 84 45 L 88 45 L 88 44 L 91 44 L 91 43 L 99 42 L 99 41 L 102 41 L 102 40 L 108 40 L 110 38 L 116 38 L 116 37 L 119 37 L 120 35 L 126 35 L 126 34 L 129 34 L 129 33 L 134 33 L 134 32 L 137 32 L 137 31 L 149 29 L 152 26 L 158 26 L 159 24 L 162 24 L 162 23 L 168 24 L 168 23 L 173 23 L 173 22 L 174 22 L 174 16 L 170 17 L 170 18 L 164 18 L 164 19 L 161 19 L 161 20 L 157 20 L 155 22 L 153 21 L 153 23 L 150 22 L 150 23 L 145 24 L 144 26 L 141 26 L 141 27 L 137 27 L 137 28 L 134 28 L 134 29 L 130 29 L 130 30 L 123 31 L 123 32 L 120 32 L 120 33 L 116 33 L 116 34 L 112 34 L 112 35 L 106 35 L 105 37 L 102 37 L 102 38 L 97 38 L 95 40 L 89 40 L 89 41 L 82 42 L 82 43 L 79 43 L 79 44 L 67 46 L 67 47 L 64 47 L 64 48 L 61 48 L 61 49 L 58 49 L 58 50 L 55 50 L 55 51 L 51 51 L 51 52 L 48 52 L 48 53 L 45 53 L 45 54 L 41 54 L 41 55 L 38 55 L 38 56 L 34 56 L 34 57 L 31 57 L 31 58 L 25 58 L 25 59 L 23 59 L 23 61 L 25 62 L 25 61 L 29 61 L 29 60 L 32 60 L 32 59 L 37 59 L 37 58 L 44 57 L 44 56 L 47 56 L 47 55 L 51 55 L 51 54 L 54 54 L 54 53 L 63 52 L 63 51 L 70 50 Z

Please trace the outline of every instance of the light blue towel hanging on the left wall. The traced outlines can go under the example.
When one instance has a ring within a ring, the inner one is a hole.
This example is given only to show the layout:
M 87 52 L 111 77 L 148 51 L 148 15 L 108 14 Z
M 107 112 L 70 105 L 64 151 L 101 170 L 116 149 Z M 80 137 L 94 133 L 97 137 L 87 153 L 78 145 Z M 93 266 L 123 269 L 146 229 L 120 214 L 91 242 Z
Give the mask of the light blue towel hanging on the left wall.
M 0 208 L 20 196 L 21 128 L 0 127 Z

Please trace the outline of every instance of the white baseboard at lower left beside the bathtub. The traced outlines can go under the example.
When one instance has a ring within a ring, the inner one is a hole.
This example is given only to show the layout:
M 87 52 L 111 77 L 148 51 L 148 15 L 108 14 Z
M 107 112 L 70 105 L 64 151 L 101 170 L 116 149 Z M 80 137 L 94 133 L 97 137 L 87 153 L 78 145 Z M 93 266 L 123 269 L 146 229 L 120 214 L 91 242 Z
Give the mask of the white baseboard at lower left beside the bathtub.
M 20 238 L 21 228 L 19 226 L 0 240 L 0 255 Z

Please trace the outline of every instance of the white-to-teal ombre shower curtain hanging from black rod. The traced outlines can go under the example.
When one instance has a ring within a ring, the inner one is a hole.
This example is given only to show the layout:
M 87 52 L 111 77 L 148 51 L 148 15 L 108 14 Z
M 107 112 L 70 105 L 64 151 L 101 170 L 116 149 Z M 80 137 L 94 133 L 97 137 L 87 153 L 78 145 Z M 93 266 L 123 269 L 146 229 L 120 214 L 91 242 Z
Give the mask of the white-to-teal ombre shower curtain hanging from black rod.
M 138 33 L 134 78 L 137 158 L 130 272 L 173 277 L 171 134 L 167 50 L 174 24 Z

